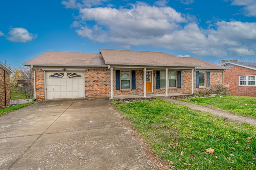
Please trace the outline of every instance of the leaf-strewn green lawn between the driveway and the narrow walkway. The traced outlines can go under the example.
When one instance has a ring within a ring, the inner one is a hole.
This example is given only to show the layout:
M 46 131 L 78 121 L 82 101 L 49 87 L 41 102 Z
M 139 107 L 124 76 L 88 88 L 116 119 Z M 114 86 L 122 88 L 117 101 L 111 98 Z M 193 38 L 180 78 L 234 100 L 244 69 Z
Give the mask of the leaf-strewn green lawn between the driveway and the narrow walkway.
M 166 168 L 256 169 L 253 125 L 226 121 L 158 99 L 123 104 L 112 100 L 112 103 L 146 139 Z

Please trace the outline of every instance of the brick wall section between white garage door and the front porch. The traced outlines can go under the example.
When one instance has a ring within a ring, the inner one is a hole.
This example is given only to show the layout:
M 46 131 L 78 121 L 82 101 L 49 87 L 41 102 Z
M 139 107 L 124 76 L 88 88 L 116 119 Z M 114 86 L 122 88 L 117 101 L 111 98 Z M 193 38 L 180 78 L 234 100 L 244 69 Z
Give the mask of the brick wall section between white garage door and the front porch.
M 110 96 L 110 70 L 85 70 L 84 84 L 86 98 Z

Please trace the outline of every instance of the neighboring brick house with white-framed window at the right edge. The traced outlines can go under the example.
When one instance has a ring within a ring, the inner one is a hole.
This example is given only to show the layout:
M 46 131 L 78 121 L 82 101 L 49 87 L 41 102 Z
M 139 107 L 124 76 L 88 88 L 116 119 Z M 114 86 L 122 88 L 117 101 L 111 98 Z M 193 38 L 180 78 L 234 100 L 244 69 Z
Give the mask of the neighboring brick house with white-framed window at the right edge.
M 229 94 L 256 97 L 256 63 L 227 61 L 222 64 L 224 84 L 229 84 Z

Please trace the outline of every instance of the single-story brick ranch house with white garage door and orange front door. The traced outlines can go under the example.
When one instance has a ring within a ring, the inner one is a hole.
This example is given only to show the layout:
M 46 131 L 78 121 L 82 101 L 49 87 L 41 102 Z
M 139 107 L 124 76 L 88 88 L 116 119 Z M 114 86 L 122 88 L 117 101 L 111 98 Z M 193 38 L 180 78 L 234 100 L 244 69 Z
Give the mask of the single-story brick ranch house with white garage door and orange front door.
M 34 70 L 37 100 L 193 94 L 209 84 L 222 84 L 225 69 L 192 57 L 110 49 L 100 49 L 100 53 L 47 51 L 23 65 Z

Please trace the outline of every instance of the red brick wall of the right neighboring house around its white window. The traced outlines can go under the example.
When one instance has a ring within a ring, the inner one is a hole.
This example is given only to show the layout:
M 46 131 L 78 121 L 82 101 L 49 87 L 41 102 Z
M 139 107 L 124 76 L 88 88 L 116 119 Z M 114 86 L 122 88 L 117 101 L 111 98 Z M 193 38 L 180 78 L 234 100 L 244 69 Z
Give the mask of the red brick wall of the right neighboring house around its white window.
M 234 96 L 256 97 L 256 86 L 239 86 L 239 76 L 256 75 L 256 70 L 241 66 L 231 66 L 224 72 L 224 84 L 229 84 L 228 93 Z

